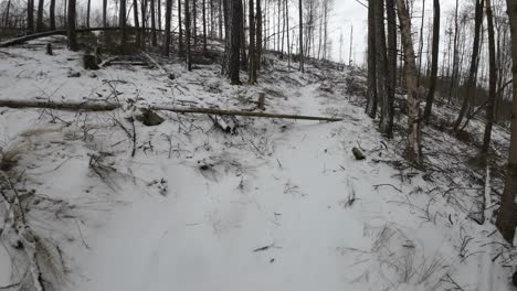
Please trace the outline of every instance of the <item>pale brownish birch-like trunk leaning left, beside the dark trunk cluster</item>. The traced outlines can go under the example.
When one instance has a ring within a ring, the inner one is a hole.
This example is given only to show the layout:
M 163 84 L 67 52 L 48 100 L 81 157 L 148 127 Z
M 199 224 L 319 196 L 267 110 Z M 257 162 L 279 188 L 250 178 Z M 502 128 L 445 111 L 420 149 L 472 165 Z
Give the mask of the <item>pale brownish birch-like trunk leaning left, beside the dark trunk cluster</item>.
M 416 63 L 414 60 L 413 40 L 411 39 L 411 19 L 405 7 L 405 0 L 397 0 L 400 32 L 405 57 L 405 83 L 408 88 L 408 144 L 407 159 L 416 165 L 422 164 L 421 128 L 419 121 L 420 96 L 416 80 Z

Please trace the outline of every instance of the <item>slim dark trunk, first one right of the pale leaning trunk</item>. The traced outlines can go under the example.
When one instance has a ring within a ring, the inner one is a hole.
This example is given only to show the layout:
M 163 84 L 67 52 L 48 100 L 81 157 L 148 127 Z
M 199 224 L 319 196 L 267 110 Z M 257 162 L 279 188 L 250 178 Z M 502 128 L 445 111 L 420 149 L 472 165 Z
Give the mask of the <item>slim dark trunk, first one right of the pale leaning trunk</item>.
M 432 61 L 431 61 L 431 76 L 429 83 L 428 97 L 425 98 L 425 109 L 423 119 L 429 123 L 431 119 L 431 112 L 434 101 L 434 93 L 436 90 L 436 76 L 437 76 L 437 63 L 439 63 L 439 51 L 440 51 L 440 0 L 434 0 L 433 6 L 433 47 L 432 47 Z

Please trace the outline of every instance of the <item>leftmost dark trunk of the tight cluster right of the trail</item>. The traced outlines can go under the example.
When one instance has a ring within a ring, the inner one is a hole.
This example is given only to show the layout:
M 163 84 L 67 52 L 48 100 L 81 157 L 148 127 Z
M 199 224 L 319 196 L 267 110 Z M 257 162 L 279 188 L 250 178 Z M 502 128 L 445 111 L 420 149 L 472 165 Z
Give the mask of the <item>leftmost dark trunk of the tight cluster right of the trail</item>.
M 376 55 L 376 6 L 368 6 L 368 93 L 366 111 L 370 118 L 377 116 L 377 55 Z

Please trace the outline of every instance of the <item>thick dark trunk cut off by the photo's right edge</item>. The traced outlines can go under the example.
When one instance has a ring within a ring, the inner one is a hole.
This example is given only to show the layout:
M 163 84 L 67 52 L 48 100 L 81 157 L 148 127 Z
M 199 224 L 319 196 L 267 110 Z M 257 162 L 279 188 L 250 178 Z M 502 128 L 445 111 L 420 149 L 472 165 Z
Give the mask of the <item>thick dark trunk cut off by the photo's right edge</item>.
M 511 56 L 517 60 L 517 1 L 506 0 L 511 33 Z M 513 65 L 514 90 L 511 106 L 511 138 L 508 159 L 508 171 L 506 174 L 505 191 L 500 200 L 499 214 L 496 226 L 503 237 L 510 244 L 515 236 L 515 196 L 517 195 L 517 62 Z

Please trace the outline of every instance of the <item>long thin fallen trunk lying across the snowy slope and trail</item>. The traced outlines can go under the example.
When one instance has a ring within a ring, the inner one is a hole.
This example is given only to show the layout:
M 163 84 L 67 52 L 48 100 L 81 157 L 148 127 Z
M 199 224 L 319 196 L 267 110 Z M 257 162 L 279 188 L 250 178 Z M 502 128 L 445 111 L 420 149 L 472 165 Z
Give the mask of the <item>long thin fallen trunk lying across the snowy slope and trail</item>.
M 94 103 L 53 103 L 53 101 L 34 101 L 34 100 L 0 100 L 0 107 L 9 108 L 50 108 L 57 110 L 87 110 L 87 111 L 112 111 L 120 108 L 114 104 L 94 104 Z M 223 110 L 217 108 L 181 108 L 168 106 L 148 106 L 147 109 L 159 111 L 171 111 L 177 114 L 197 114 L 197 115 L 217 115 L 217 116 L 243 116 L 243 117 L 262 117 L 262 118 L 279 118 L 295 120 L 316 120 L 316 121 L 341 121 L 341 118 L 318 117 L 318 116 L 299 116 L 284 114 L 266 114 L 240 110 Z

